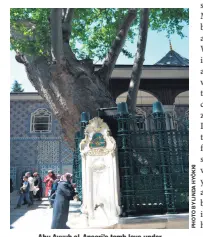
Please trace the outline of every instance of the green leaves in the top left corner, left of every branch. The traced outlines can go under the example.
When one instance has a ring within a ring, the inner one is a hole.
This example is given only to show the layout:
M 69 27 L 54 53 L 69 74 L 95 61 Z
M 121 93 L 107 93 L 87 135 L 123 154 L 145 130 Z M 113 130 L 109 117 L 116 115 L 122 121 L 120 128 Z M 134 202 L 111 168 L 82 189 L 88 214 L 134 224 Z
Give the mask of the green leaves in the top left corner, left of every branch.
M 50 9 L 11 9 L 11 48 L 28 55 L 46 55 L 50 51 L 49 15 Z

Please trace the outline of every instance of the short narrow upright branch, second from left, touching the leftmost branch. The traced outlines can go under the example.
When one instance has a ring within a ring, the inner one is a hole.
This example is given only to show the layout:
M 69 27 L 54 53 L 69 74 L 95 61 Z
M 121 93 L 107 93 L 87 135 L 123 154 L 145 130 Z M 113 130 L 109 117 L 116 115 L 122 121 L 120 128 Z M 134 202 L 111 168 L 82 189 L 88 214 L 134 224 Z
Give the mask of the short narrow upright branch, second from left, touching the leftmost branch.
M 72 31 L 72 19 L 74 16 L 74 8 L 64 9 L 63 17 L 63 39 L 69 43 L 71 31 Z

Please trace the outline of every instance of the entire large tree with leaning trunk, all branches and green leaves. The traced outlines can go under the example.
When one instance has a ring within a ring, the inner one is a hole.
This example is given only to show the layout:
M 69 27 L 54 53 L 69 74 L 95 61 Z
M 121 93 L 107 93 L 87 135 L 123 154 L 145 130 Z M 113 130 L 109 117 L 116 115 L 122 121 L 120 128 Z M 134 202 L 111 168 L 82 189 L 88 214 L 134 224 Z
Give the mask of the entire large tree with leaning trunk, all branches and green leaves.
M 127 95 L 134 112 L 148 28 L 184 37 L 188 22 L 189 10 L 181 8 L 13 8 L 10 45 L 73 144 L 81 112 L 94 116 L 96 109 L 116 105 L 109 80 L 120 53 L 134 58 Z M 136 37 L 129 52 L 125 43 Z M 99 70 L 97 61 L 103 61 Z

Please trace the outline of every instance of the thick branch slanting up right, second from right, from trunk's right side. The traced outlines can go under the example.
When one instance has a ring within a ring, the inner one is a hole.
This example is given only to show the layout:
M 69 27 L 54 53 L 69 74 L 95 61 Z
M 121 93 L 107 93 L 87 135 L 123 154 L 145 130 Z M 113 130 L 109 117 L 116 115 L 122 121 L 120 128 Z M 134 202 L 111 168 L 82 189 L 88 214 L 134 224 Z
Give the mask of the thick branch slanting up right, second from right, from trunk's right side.
M 118 31 L 116 39 L 112 43 L 111 49 L 108 52 L 102 68 L 98 71 L 99 76 L 105 81 L 107 86 L 109 84 L 109 78 L 111 76 L 111 73 L 113 72 L 117 58 L 125 43 L 125 39 L 128 35 L 130 26 L 136 18 L 136 14 L 137 9 L 129 9 L 127 16 Z

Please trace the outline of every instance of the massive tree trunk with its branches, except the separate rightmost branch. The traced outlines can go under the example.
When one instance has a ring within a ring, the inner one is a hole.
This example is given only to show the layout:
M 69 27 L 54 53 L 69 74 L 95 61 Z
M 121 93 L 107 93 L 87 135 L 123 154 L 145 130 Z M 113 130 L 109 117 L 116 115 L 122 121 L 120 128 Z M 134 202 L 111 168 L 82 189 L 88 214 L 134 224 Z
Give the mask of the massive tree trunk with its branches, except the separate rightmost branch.
M 73 147 L 75 132 L 82 112 L 96 116 L 96 110 L 116 105 L 109 91 L 109 78 L 122 50 L 136 9 L 129 9 L 115 35 L 100 70 L 95 71 L 91 60 L 77 60 L 69 40 L 74 9 L 51 10 L 51 56 L 26 57 L 17 53 L 16 60 L 26 67 L 29 80 L 49 104 L 60 121 L 67 141 Z M 19 36 L 13 32 L 14 37 Z

